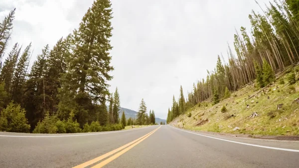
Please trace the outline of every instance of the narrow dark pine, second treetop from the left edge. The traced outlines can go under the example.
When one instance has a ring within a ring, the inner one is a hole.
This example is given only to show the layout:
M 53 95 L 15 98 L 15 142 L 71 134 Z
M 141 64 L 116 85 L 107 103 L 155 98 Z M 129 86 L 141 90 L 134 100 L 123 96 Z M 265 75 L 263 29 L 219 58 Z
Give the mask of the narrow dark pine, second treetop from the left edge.
M 21 48 L 18 47 L 18 44 L 15 43 L 12 47 L 12 50 L 9 52 L 7 58 L 4 61 L 3 68 L 0 73 L 0 81 L 5 83 L 5 90 L 7 93 L 10 92 L 11 81 L 13 77 L 14 68 L 20 54 Z

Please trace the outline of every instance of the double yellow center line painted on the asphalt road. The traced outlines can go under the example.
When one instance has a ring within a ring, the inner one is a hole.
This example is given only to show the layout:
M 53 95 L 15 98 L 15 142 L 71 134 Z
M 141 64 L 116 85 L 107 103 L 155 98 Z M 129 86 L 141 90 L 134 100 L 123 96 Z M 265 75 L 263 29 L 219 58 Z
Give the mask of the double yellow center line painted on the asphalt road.
M 101 163 L 99 163 L 99 164 L 97 164 L 97 165 L 95 165 L 95 166 L 92 167 L 92 168 L 102 168 L 103 166 L 107 165 L 111 161 L 115 160 L 119 156 L 123 155 L 124 153 L 126 153 L 127 151 L 129 151 L 130 149 L 132 149 L 133 147 L 135 147 L 136 145 L 138 145 L 139 143 L 141 143 L 142 141 L 144 141 L 145 139 L 147 139 L 151 134 L 153 134 L 154 132 L 156 132 L 160 127 L 156 128 L 155 130 L 153 130 L 149 134 L 147 134 L 145 136 L 142 136 L 139 139 L 134 140 L 134 141 L 132 141 L 132 142 L 130 142 L 130 143 L 128 143 L 128 144 L 126 144 L 126 145 L 118 148 L 118 149 L 110 151 L 110 152 L 108 152 L 108 153 L 106 153 L 106 154 L 104 154 L 104 155 L 102 155 L 102 156 L 100 156 L 98 158 L 92 159 L 90 161 L 87 161 L 87 162 L 85 162 L 83 164 L 80 164 L 78 166 L 75 166 L 73 168 L 85 168 L 87 166 L 95 164 L 95 163 L 97 163 L 97 162 L 99 162 L 99 161 L 101 161 L 101 160 L 103 160 L 103 159 L 105 159 L 105 158 L 107 158 L 107 157 L 109 157 L 109 156 L 111 156 L 111 155 L 113 155 L 113 154 L 121 151 L 121 152 L 117 153 L 116 155 L 113 155 L 110 158 L 108 158 L 108 159 L 102 161 Z

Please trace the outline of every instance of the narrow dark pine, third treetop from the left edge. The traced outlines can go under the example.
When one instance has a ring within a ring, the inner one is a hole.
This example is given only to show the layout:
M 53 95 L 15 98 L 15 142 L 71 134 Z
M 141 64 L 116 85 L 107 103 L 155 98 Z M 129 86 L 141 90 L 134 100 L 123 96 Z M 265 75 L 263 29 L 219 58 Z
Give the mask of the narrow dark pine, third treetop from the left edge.
M 24 52 L 19 58 L 16 64 L 14 76 L 12 78 L 10 94 L 12 100 L 14 100 L 16 103 L 21 103 L 22 101 L 22 95 L 23 95 L 22 89 L 25 84 L 25 77 L 27 75 L 30 48 L 31 48 L 31 43 L 25 48 Z

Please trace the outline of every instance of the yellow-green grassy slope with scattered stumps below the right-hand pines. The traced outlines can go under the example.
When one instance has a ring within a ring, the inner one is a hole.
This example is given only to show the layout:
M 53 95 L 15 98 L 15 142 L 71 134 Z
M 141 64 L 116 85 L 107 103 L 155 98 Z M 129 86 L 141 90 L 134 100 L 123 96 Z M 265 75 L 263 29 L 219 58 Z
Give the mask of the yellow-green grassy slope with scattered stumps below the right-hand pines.
M 295 73 L 298 78 L 299 73 Z M 293 103 L 299 98 L 299 82 L 292 85 L 296 89 L 294 91 L 290 89 L 287 76 L 288 74 L 282 76 L 265 91 L 247 101 L 245 100 L 259 91 L 254 84 L 232 93 L 230 98 L 214 106 L 210 102 L 201 103 L 200 107 L 194 106 L 170 124 L 190 130 L 222 133 L 299 135 L 299 104 Z M 280 80 L 284 80 L 285 84 L 279 84 Z M 277 105 L 281 103 L 284 104 L 282 109 L 277 110 Z M 227 113 L 222 113 L 221 107 L 226 104 Z M 249 109 L 246 107 L 247 104 L 250 105 Z M 188 117 L 189 112 L 192 114 L 191 117 Z M 249 118 L 253 112 L 257 112 L 260 116 Z M 236 117 L 229 118 L 231 115 Z M 207 123 L 197 125 L 205 119 L 208 119 Z M 240 130 L 233 131 L 235 127 L 239 127 Z

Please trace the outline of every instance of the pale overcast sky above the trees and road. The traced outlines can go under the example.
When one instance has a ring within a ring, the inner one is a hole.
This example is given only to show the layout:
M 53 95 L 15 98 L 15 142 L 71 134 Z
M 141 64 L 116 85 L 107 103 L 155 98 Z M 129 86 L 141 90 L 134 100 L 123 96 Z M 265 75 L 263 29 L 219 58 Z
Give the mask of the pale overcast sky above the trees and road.
M 258 0 L 261 4 L 268 0 Z M 0 0 L 0 20 L 16 7 L 13 43 L 32 42 L 33 60 L 44 45 L 77 28 L 93 0 Z M 148 110 L 166 119 L 172 95 L 178 98 L 193 82 L 226 57 L 235 27 L 250 30 L 248 14 L 261 11 L 254 0 L 112 0 L 114 27 L 110 90 L 118 87 L 121 106 L 138 110 L 142 98 Z

